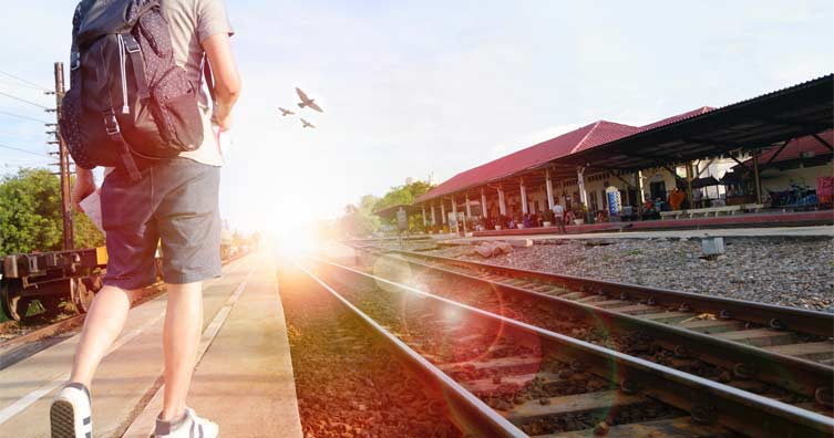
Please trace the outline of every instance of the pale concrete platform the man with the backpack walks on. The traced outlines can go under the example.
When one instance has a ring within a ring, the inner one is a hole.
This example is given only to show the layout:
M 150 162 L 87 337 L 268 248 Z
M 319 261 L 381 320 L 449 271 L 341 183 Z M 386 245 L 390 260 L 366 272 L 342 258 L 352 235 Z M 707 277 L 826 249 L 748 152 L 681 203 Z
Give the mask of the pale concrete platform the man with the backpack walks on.
M 164 311 L 164 295 L 131 310 L 102 361 L 92 387 L 94 436 L 128 436 L 133 428 L 133 436 L 147 437 L 151 429 L 138 420 L 158 413 L 153 401 L 162 385 Z M 205 354 L 189 406 L 217 421 L 224 436 L 301 437 L 272 258 L 247 255 L 226 265 L 222 279 L 206 281 L 204 321 Z M 0 372 L 1 430 L 49 436 L 49 403 L 69 376 L 78 341 L 75 335 Z

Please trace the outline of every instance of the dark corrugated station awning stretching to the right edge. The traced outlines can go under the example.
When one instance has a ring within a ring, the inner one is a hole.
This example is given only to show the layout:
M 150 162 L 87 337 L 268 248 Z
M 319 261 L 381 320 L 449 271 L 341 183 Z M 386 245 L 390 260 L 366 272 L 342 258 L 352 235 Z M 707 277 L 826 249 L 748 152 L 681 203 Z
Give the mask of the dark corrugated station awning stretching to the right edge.
M 831 129 L 833 108 L 830 74 L 559 157 L 552 165 L 637 170 L 753 150 Z

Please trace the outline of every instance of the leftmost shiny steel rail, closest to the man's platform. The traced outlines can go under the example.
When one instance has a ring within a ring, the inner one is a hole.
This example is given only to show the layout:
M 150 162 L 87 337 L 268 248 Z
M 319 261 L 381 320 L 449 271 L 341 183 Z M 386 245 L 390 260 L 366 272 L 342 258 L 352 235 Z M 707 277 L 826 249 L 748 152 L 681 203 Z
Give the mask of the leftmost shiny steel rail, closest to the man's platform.
M 463 429 L 464 432 L 476 437 L 526 437 L 527 435 L 498 415 L 484 404 L 480 398 L 466 390 L 457 382 L 440 371 L 431 362 L 411 350 L 404 342 L 388 332 L 382 325 L 365 315 L 339 292 L 330 288 L 316 274 L 307 270 L 301 263 L 292 260 L 299 270 L 315 280 L 322 289 L 336 298 L 348 311 L 362 322 L 377 336 L 383 338 L 391 351 L 408 368 L 414 373 L 424 384 L 429 385 L 435 394 L 442 394 L 454 413 L 452 421 Z

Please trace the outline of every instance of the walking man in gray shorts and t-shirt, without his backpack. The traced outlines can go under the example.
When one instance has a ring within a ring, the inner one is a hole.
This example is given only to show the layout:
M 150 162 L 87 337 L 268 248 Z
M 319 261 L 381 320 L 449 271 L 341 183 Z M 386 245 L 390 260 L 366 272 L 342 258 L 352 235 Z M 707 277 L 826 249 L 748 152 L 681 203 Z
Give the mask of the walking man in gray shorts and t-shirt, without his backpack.
M 106 174 L 101 189 L 107 241 L 104 288 L 84 321 L 70 383 L 52 401 L 52 437 L 92 435 L 90 390 L 102 357 L 119 336 L 131 301 L 155 281 L 154 253 L 162 240 L 163 275 L 168 294 L 163 350 L 165 390 L 155 437 L 216 437 L 216 424 L 198 417 L 185 399 L 203 328 L 202 281 L 220 275 L 220 218 L 217 205 L 223 156 L 213 133 L 231 127 L 231 108 L 240 79 L 231 55 L 231 28 L 223 0 L 163 0 L 174 56 L 194 84 L 202 81 L 202 61 L 214 71 L 216 102 L 209 115 L 200 92 L 204 143 L 179 157 L 142 170 L 137 181 L 122 170 Z M 95 190 L 91 170 L 76 168 L 72 200 Z M 68 415 L 69 414 L 69 415 Z M 64 421 L 62 425 L 61 421 Z M 72 421 L 72 427 L 66 427 Z M 68 431 L 71 430 L 71 431 Z

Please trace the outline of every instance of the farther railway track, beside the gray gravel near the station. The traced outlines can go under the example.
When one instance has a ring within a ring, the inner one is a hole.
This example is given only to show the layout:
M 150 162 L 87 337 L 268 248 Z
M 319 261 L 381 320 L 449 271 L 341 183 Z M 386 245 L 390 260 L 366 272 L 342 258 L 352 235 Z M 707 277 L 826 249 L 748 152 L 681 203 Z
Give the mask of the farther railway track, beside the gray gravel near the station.
M 612 335 L 640 333 L 677 359 L 697 358 L 718 367 L 708 376 L 759 393 L 769 390 L 760 383 L 775 386 L 795 396 L 776 392 L 772 397 L 833 415 L 832 314 L 409 251 L 364 250 L 374 257 L 393 253 L 410 267 L 488 285 L 501 305 L 519 309 L 535 325 L 547 326 L 552 315 L 560 315 Z M 535 309 L 525 311 L 531 305 Z

